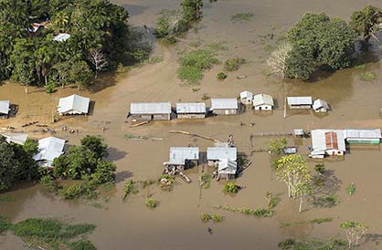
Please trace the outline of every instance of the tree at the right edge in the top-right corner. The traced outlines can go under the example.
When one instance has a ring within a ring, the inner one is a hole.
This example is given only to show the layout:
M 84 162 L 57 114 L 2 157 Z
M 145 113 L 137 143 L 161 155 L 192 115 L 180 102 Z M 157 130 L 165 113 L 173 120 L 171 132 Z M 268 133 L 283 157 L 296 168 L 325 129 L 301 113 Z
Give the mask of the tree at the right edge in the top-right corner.
M 350 26 L 358 36 L 363 37 L 366 44 L 371 37 L 378 41 L 376 33 L 382 28 L 382 11 L 379 7 L 366 5 L 362 10 L 355 11 L 350 19 Z

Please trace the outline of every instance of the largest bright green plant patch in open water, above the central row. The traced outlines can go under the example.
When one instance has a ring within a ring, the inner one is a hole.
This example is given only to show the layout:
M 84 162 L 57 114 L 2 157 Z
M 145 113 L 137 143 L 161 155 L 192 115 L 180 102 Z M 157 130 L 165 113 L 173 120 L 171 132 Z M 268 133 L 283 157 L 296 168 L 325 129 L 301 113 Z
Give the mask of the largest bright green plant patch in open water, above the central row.
M 214 55 L 204 49 L 187 53 L 180 59 L 178 77 L 189 84 L 198 83 L 203 77 L 203 72 L 218 63 Z

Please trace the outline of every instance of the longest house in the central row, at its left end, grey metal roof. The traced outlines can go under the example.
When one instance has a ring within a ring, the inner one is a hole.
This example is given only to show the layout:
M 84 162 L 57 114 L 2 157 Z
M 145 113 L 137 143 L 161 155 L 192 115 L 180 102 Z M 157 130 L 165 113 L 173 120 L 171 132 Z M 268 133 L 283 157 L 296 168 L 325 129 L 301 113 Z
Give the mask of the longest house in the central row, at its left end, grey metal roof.
M 132 120 L 171 120 L 170 102 L 133 102 L 130 104 Z

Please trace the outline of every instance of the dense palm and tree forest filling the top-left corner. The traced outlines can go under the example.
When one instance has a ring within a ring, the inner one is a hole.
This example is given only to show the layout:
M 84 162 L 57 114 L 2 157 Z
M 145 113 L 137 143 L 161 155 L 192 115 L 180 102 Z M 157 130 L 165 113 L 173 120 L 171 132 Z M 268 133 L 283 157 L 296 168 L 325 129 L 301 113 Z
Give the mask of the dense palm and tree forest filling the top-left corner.
M 97 71 L 144 56 L 127 11 L 107 0 L 5 0 L 0 9 L 0 79 L 80 88 Z M 44 26 L 35 32 L 36 23 Z M 70 37 L 55 41 L 59 33 Z

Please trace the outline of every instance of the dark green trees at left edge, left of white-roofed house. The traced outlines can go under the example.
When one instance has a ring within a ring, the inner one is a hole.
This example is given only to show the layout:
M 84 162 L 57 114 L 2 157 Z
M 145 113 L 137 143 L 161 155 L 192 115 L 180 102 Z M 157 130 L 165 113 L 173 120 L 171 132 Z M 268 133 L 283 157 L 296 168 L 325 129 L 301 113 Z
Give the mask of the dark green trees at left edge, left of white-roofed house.
M 9 190 L 16 182 L 36 179 L 39 174 L 33 155 L 37 143 L 27 140 L 24 146 L 8 143 L 0 136 L 0 193 Z

